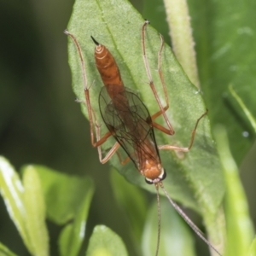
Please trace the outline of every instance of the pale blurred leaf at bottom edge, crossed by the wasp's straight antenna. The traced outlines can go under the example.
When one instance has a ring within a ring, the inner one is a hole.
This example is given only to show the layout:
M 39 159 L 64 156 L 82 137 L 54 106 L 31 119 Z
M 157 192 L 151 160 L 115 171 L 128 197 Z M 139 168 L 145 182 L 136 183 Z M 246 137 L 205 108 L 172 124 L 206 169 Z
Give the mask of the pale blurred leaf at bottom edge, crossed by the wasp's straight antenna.
M 160 198 L 161 230 L 160 251 L 161 256 L 192 256 L 195 255 L 194 241 L 189 226 L 177 214 L 169 201 Z M 146 218 L 143 232 L 143 255 L 155 255 L 157 241 L 157 203 L 156 200 Z M 181 239 L 182 237 L 182 239 Z

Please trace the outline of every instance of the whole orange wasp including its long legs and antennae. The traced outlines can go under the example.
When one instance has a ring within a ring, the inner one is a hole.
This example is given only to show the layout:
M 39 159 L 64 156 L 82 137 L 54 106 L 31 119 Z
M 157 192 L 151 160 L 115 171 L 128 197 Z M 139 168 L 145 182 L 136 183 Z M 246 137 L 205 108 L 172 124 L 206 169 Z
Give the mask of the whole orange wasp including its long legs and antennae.
M 128 154 L 128 158 L 126 158 L 125 160 L 121 160 L 118 154 L 121 163 L 125 164 L 126 162 L 128 162 L 128 160 L 132 160 L 137 167 L 137 170 L 145 177 L 146 182 L 154 183 L 154 186 L 157 190 L 157 201 L 159 208 L 159 232 L 156 255 L 158 255 L 160 244 L 160 196 L 158 191 L 159 186 L 163 189 L 166 197 L 171 202 L 172 206 L 195 231 L 195 233 L 200 236 L 201 239 L 205 241 L 208 246 L 212 247 L 212 249 L 216 253 L 218 253 L 217 249 L 212 246 L 210 241 L 207 241 L 207 239 L 201 235 L 201 230 L 199 230 L 196 225 L 189 219 L 189 217 L 185 215 L 182 209 L 178 207 L 174 201 L 172 201 L 171 197 L 167 194 L 166 189 L 164 188 L 164 185 L 162 183 L 162 181 L 166 177 L 166 171 L 161 165 L 159 149 L 179 150 L 183 152 L 189 151 L 194 142 L 197 125 L 201 118 L 207 114 L 207 112 L 203 113 L 201 117 L 197 119 L 195 123 L 195 128 L 192 131 L 189 147 L 179 148 L 172 145 L 161 145 L 159 147 L 157 146 L 154 137 L 154 128 L 157 128 L 158 130 L 163 131 L 168 135 L 173 135 L 174 130 L 172 129 L 172 125 L 170 124 L 169 119 L 166 116 L 166 110 L 169 108 L 168 96 L 166 92 L 166 84 L 160 70 L 160 55 L 163 49 L 163 39 L 162 37 L 160 37 L 161 45 L 158 55 L 158 72 L 165 93 L 165 107 L 163 107 L 160 102 L 159 96 L 154 87 L 154 82 L 151 77 L 150 69 L 148 67 L 148 60 L 145 50 L 145 29 L 147 25 L 148 20 L 145 21 L 142 29 L 143 61 L 148 75 L 149 85 L 153 90 L 155 99 L 160 107 L 160 111 L 154 113 L 152 116 L 150 116 L 150 114 L 148 113 L 148 108 L 146 108 L 141 99 L 131 90 L 125 88 L 120 76 L 119 67 L 116 64 L 113 55 L 110 54 L 105 46 L 103 46 L 102 44 L 98 44 L 96 40 L 92 38 L 94 43 L 96 44 L 96 67 L 102 77 L 102 82 L 105 85 L 104 87 L 102 87 L 99 95 L 99 107 L 102 114 L 102 119 L 108 127 L 108 132 L 103 137 L 100 136 L 100 127 L 99 125 L 96 125 L 96 121 L 94 121 L 94 113 L 90 105 L 90 94 L 87 85 L 82 51 L 80 49 L 77 39 L 71 33 L 65 31 L 65 33 L 73 39 L 73 42 L 78 49 L 79 57 L 81 60 L 84 78 L 83 81 L 85 103 L 88 109 L 90 120 L 91 143 L 94 147 L 98 148 L 99 158 L 102 163 L 106 163 L 113 156 L 114 153 L 118 153 L 117 150 L 121 146 Z M 156 119 L 160 115 L 163 115 L 168 128 L 154 123 L 154 119 Z M 94 127 L 96 129 L 96 141 L 94 135 Z M 108 137 L 111 136 L 113 136 L 117 142 L 114 143 L 113 147 L 108 151 L 108 154 L 106 154 L 106 156 L 102 158 L 101 145 L 106 142 Z M 218 253 L 218 255 L 220 255 L 220 253 Z

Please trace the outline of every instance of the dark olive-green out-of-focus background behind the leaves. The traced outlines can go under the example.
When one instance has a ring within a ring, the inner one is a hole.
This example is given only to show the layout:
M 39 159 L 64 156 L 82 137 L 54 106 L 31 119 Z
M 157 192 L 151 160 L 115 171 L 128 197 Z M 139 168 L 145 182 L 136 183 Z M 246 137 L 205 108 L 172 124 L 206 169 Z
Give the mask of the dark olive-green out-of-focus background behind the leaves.
M 148 8 L 147 1 L 133 2 L 139 11 Z M 152 16 L 145 18 L 154 20 L 152 26 L 170 42 L 164 9 L 161 1 L 158 3 L 159 8 L 156 6 Z M 97 151 L 90 145 L 88 121 L 80 112 L 79 103 L 74 102 L 67 37 L 63 34 L 72 6 L 73 1 L 0 0 L 0 154 L 17 170 L 32 163 L 93 177 L 96 195 L 89 232 L 95 224 L 106 224 L 129 245 L 130 238 L 124 230 L 127 220 L 113 200 L 109 166 L 99 163 Z M 241 164 L 254 223 L 255 153 L 254 144 Z M 2 198 L 0 204 L 0 241 L 15 253 L 28 255 Z M 52 255 L 57 255 L 55 239 L 60 228 L 50 223 L 49 228 L 54 241 Z

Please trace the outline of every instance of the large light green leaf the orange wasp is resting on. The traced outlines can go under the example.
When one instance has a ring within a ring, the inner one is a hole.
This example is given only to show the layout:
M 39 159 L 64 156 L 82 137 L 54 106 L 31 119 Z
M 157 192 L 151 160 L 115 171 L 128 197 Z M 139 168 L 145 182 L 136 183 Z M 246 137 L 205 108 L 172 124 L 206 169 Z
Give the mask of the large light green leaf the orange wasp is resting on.
M 95 45 L 90 39 L 91 35 L 112 52 L 119 65 L 125 86 L 132 90 L 139 90 L 140 97 L 143 102 L 147 103 L 150 113 L 159 111 L 143 66 L 142 26 L 143 18 L 131 7 L 131 3 L 126 1 L 119 1 L 116 4 L 106 0 L 77 0 L 73 6 L 73 15 L 68 25 L 68 31 L 78 39 L 82 48 L 88 86 L 94 84 L 90 87 L 90 100 L 94 113 L 96 113 L 96 119 L 101 124 L 102 134 L 107 131 L 102 125 L 98 108 L 98 96 L 102 81 L 94 64 Z M 160 78 L 154 71 L 157 68 L 159 48 L 159 34 L 154 28 L 148 26 L 146 50 L 149 66 L 156 90 L 159 92 L 160 98 L 164 99 Z M 79 100 L 83 100 L 84 85 L 80 61 L 73 42 L 69 44 L 69 63 L 73 73 L 73 90 Z M 162 72 L 166 79 L 170 100 L 167 115 L 177 132 L 175 136 L 168 137 L 162 132 L 156 131 L 157 141 L 159 144 L 170 143 L 185 147 L 189 145 L 196 119 L 205 112 L 206 108 L 200 92 L 190 83 L 167 45 L 165 45 L 162 55 Z M 84 114 L 87 115 L 84 104 L 81 105 Z M 105 148 L 110 148 L 113 143 L 114 140 L 110 139 Z M 195 144 L 188 154 L 167 151 L 163 152 L 161 157 L 167 172 L 165 186 L 172 198 L 201 212 L 205 223 L 212 224 L 224 195 L 224 181 L 207 117 L 201 120 L 196 131 Z M 118 158 L 113 157 L 111 164 L 131 183 L 154 192 L 154 186 L 148 186 L 131 163 L 123 167 Z

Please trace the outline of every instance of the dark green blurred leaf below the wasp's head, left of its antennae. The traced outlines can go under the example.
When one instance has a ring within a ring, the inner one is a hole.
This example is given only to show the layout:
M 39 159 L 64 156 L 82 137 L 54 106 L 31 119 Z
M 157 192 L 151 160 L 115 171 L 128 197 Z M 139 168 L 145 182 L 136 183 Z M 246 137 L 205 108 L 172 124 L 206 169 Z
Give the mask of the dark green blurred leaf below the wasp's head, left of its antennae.
M 147 200 L 143 191 L 131 183 L 127 183 L 118 172 L 111 170 L 111 185 L 119 206 L 123 208 L 129 218 L 131 238 L 137 246 L 141 244 L 143 224 L 147 213 Z

